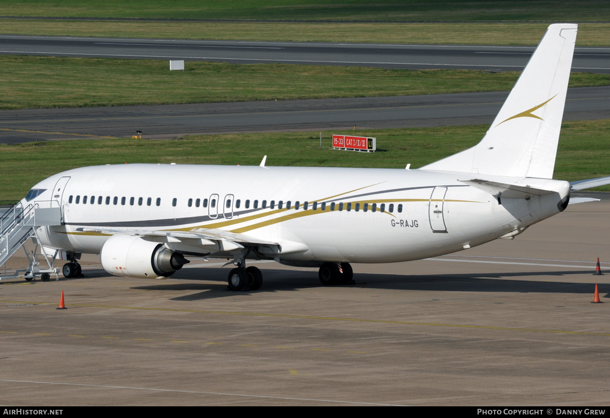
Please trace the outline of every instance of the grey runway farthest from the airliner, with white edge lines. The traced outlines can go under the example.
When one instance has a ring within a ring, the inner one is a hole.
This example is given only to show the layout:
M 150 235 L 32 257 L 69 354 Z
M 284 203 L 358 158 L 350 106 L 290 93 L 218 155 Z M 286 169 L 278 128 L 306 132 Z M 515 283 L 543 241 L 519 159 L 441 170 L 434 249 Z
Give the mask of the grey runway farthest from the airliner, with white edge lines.
M 32 24 L 35 24 L 33 22 Z M 396 45 L 312 42 L 151 40 L 0 36 L 0 54 L 381 68 L 520 71 L 526 46 Z M 610 73 L 610 48 L 576 48 L 572 71 Z

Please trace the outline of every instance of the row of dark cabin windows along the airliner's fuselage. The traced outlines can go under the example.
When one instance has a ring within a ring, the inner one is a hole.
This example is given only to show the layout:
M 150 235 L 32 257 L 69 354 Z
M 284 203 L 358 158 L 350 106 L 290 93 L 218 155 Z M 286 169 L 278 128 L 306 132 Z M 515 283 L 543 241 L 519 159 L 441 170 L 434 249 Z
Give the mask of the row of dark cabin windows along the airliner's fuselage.
M 74 196 L 70 196 L 68 198 L 68 203 L 72 203 L 73 200 L 74 200 L 74 202 L 76 204 L 80 204 L 81 203 L 81 195 L 77 195 L 76 199 L 73 199 L 73 197 Z M 95 196 L 83 196 L 82 197 L 82 204 L 87 204 L 87 201 L 88 201 L 88 203 L 90 205 L 93 205 L 93 204 L 95 204 L 95 200 L 96 200 Z M 98 205 L 101 205 L 102 202 L 106 203 L 106 205 L 110 205 L 110 196 L 106 196 L 106 199 L 104 199 L 103 196 L 98 196 L 97 197 L 97 201 L 98 201 Z M 119 202 L 119 200 L 118 200 L 117 196 L 112 198 L 112 204 L 113 205 L 118 205 L 118 202 Z M 126 202 L 127 202 L 127 198 L 126 197 L 121 197 L 121 205 L 126 205 Z M 198 208 L 199 205 L 201 205 L 201 204 L 203 204 L 202 206 L 204 208 L 207 208 L 208 203 L 209 203 L 211 208 L 215 208 L 216 207 L 216 203 L 217 203 L 216 199 L 210 199 L 210 200 L 203 199 L 203 202 L 202 202 L 201 199 L 195 199 L 194 201 L 193 201 L 193 199 L 188 199 L 188 207 L 192 207 L 193 206 L 193 202 L 195 203 L 195 207 L 196 208 Z M 144 198 L 143 197 L 138 197 L 138 206 L 142 206 L 143 204 L 144 204 Z M 172 206 L 176 206 L 177 204 L 178 204 L 178 199 L 176 199 L 176 197 L 174 197 L 171 200 L 171 205 Z M 130 197 L 129 198 L 129 205 L 131 205 L 131 206 L 135 205 L 135 197 Z M 152 205 L 152 197 L 148 197 L 146 199 L 146 206 L 151 206 L 151 205 Z M 157 206 L 161 205 L 161 198 L 160 197 L 157 197 L 156 205 Z M 242 201 L 240 199 L 235 200 L 235 208 L 236 209 L 239 209 L 241 205 L 242 205 Z M 226 208 L 231 208 L 231 199 L 226 199 L 225 206 L 226 206 Z M 246 209 L 250 208 L 250 200 L 249 199 L 245 201 L 244 207 Z M 259 201 L 258 200 L 254 200 L 252 202 L 252 207 L 254 209 L 259 208 Z M 268 202 L 268 206 L 267 206 L 267 200 L 262 200 L 262 202 L 260 202 L 260 207 L 262 209 L 267 209 L 267 207 L 270 208 L 270 209 L 274 209 L 276 207 L 278 209 L 284 209 L 284 207 L 285 207 L 288 210 L 288 209 L 292 209 L 293 206 L 292 206 L 292 202 L 290 200 L 288 200 L 287 202 L 284 202 L 283 200 L 279 200 L 278 202 L 276 202 L 275 200 L 270 200 L 270 202 Z M 303 202 L 302 207 L 303 207 L 303 210 L 308 210 L 309 208 L 311 208 L 312 210 L 318 210 L 318 208 L 320 208 L 320 210 L 326 210 L 326 202 L 322 202 L 320 204 L 318 204 L 318 202 L 312 202 L 311 204 L 309 202 Z M 386 211 L 386 204 L 384 204 L 384 203 L 382 203 L 378 207 L 376 203 L 374 203 L 374 204 L 365 203 L 365 204 L 361 205 L 359 202 L 355 203 L 355 204 L 352 204 L 351 202 L 350 203 L 346 203 L 346 204 L 344 204 L 344 203 L 336 204 L 335 202 L 332 202 L 329 205 L 329 207 L 330 207 L 331 211 L 334 211 L 334 210 L 342 211 L 344 209 L 346 211 L 348 211 L 348 212 L 351 211 L 351 210 L 354 210 L 354 211 L 358 212 L 361 209 L 364 212 L 368 212 L 369 210 L 372 211 L 372 212 L 376 212 L 378 209 L 381 212 L 385 212 Z M 294 208 L 295 208 L 295 210 L 299 210 L 301 208 L 301 202 L 299 200 L 297 200 L 295 202 Z M 389 204 L 387 210 L 390 213 L 392 213 L 394 211 L 394 204 Z M 398 210 L 399 213 L 401 213 L 403 211 L 403 205 L 399 204 L 398 207 L 397 207 L 397 210 Z

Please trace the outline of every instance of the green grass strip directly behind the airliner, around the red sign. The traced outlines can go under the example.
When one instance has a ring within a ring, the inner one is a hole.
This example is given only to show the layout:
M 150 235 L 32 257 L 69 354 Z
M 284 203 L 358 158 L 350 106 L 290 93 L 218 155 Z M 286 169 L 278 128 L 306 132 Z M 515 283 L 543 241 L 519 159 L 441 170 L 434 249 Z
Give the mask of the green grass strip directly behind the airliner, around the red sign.
M 25 196 L 35 183 L 67 169 L 102 164 L 178 163 L 268 166 L 331 166 L 417 168 L 473 146 L 488 126 L 425 129 L 349 130 L 351 135 L 375 136 L 379 151 L 359 153 L 330 149 L 331 133 L 249 133 L 187 136 L 173 141 L 75 140 L 17 145 L 0 144 L 0 200 Z M 610 119 L 564 122 L 555 164 L 555 178 L 590 179 L 610 175 Z M 600 188 L 610 190 L 610 186 Z

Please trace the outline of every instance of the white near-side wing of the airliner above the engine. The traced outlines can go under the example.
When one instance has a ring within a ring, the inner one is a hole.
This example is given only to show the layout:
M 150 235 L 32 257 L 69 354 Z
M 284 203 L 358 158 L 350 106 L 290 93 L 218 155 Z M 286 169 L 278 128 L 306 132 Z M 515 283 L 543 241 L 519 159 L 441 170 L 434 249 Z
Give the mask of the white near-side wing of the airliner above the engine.
M 281 243 L 257 239 L 242 233 L 234 233 L 216 228 L 197 228 L 190 231 L 142 230 L 133 228 L 77 228 L 82 232 L 98 232 L 109 235 L 140 236 L 146 241 L 163 243 L 169 249 L 187 252 L 231 252 L 245 247 L 257 247 L 260 253 L 277 255 L 279 253 L 305 252 L 309 250 L 303 243 L 282 241 Z

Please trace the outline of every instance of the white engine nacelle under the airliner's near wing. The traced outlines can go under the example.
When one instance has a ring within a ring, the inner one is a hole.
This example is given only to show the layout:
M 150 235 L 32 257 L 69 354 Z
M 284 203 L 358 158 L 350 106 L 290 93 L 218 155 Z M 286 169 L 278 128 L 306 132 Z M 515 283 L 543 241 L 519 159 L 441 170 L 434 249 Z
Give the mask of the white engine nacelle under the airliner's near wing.
M 180 253 L 139 236 L 113 235 L 100 253 L 102 267 L 115 276 L 167 278 L 188 263 Z

